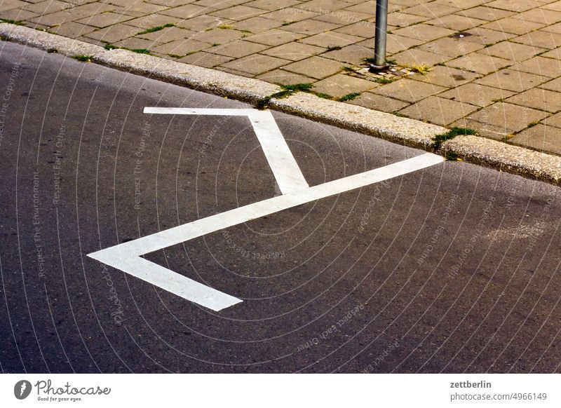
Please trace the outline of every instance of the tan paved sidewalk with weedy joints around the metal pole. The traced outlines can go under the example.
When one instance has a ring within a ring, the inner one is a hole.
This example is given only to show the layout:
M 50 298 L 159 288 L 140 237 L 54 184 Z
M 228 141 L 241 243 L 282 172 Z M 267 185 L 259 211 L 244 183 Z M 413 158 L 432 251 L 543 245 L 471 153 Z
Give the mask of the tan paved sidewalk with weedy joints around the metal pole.
M 4 0 L 0 18 L 561 154 L 561 1 Z

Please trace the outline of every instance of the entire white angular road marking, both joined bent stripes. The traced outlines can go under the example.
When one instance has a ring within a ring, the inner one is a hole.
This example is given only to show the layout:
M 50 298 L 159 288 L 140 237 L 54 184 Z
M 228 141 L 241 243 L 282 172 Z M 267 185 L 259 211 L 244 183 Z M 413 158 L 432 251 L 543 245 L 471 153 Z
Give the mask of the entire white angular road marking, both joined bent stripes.
M 360 187 L 382 182 L 400 175 L 406 175 L 407 173 L 428 168 L 431 165 L 444 161 L 442 156 L 426 153 L 405 161 L 362 172 L 358 175 L 309 187 L 270 111 L 258 111 L 257 109 L 147 107 L 144 108 L 144 113 L 248 116 L 280 187 L 280 191 L 283 192 L 281 196 L 234 208 L 234 210 L 221 212 L 217 215 L 198 219 L 194 222 L 175 226 L 165 231 L 153 233 L 149 236 L 88 254 L 88 257 L 97 259 L 104 264 L 120 269 L 213 311 L 220 311 L 223 308 L 238 304 L 242 300 L 186 278 L 179 273 L 170 271 L 168 268 L 154 264 L 154 262 L 142 258 L 142 255 L 183 243 L 220 229 L 242 224 L 252 219 L 288 210 L 297 205 L 359 189 Z

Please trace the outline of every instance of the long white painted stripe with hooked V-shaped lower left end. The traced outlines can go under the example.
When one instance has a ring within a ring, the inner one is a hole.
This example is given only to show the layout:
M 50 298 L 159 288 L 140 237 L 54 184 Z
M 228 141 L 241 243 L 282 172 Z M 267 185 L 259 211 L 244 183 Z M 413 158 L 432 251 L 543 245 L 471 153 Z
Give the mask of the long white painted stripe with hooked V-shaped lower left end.
M 320 200 L 321 198 L 327 198 L 369 184 L 382 182 L 386 179 L 422 170 L 432 165 L 442 163 L 442 161 L 444 161 L 442 156 L 431 153 L 421 154 L 421 156 L 359 173 L 358 175 L 344 177 L 295 193 L 269 198 L 257 203 L 235 208 L 234 210 L 198 219 L 188 224 L 182 224 L 165 231 L 138 238 L 137 240 L 93 252 L 88 254 L 88 257 L 97 259 L 114 268 L 121 269 L 121 271 L 130 273 L 130 275 L 146 280 L 153 285 L 168 290 L 168 292 L 175 293 L 189 301 L 194 301 L 213 311 L 219 311 L 241 302 L 241 299 L 197 283 L 179 273 L 175 273 L 163 266 L 140 258 L 140 256 L 193 238 L 204 236 L 220 229 L 242 224 L 252 219 L 288 210 L 297 205 Z

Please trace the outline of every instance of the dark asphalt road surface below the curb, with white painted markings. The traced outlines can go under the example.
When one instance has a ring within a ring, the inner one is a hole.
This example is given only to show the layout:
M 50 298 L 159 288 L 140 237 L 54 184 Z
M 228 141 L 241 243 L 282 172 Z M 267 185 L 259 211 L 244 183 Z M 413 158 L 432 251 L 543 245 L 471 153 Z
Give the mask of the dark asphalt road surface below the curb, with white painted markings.
M 557 187 L 0 50 L 2 372 L 561 372 Z

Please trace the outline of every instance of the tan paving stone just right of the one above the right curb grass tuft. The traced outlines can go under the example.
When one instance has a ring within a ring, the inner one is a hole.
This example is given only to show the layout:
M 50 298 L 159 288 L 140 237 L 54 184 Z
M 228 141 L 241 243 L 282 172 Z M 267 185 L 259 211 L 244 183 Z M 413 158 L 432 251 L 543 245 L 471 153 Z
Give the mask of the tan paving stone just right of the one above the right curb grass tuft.
M 515 104 L 496 102 L 489 107 L 485 107 L 474 114 L 468 115 L 468 119 L 480 123 L 488 123 L 499 128 L 504 128 L 508 132 L 519 132 L 527 128 L 529 123 L 541 121 L 548 114 L 529 107 L 520 107 Z

